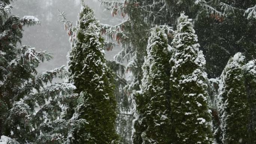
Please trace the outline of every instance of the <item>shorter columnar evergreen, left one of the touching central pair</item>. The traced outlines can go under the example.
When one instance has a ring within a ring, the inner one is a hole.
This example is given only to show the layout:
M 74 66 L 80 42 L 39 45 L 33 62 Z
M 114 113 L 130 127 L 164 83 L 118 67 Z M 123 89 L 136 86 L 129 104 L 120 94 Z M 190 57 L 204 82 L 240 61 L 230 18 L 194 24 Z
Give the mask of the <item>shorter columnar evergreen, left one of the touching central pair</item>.
M 153 28 L 143 64 L 141 90 L 134 94 L 134 144 L 169 144 L 170 46 L 160 27 Z

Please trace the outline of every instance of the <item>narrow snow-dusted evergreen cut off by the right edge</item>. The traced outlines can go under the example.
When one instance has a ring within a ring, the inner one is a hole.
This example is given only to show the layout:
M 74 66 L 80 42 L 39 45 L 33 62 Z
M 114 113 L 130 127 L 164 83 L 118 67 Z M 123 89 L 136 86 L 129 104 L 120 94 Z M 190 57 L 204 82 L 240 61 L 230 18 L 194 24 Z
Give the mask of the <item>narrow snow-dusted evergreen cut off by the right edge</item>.
M 256 143 L 256 64 L 249 61 L 243 66 L 245 87 L 249 105 L 249 139 L 248 144 Z

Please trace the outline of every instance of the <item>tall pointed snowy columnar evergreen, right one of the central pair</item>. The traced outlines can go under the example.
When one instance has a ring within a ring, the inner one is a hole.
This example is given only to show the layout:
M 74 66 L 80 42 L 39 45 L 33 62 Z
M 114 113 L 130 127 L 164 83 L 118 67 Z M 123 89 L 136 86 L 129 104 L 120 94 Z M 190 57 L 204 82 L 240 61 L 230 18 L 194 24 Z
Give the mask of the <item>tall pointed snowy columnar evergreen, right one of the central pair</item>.
M 181 13 L 172 42 L 171 111 L 174 144 L 211 144 L 205 59 L 191 19 Z

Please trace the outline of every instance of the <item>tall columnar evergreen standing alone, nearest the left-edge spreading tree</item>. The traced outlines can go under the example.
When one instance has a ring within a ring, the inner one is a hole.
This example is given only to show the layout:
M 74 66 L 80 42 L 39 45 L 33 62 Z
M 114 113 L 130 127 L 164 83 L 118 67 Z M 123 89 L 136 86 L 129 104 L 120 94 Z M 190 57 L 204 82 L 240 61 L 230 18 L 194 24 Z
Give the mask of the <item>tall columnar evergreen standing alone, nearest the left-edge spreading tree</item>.
M 79 119 L 88 123 L 73 137 L 76 143 L 117 143 L 115 130 L 116 99 L 113 93 L 113 73 L 106 65 L 103 37 L 94 12 L 82 4 L 78 25 L 73 28 L 75 37 L 69 52 L 70 82 L 80 94 L 76 108 Z

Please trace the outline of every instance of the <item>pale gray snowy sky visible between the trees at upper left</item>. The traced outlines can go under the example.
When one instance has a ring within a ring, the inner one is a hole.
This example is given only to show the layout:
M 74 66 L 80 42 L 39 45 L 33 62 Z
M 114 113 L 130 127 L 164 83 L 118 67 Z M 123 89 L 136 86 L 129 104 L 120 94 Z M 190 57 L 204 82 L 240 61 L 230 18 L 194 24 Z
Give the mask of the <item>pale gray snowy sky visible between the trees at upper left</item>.
M 122 22 L 121 17 L 114 17 L 109 12 L 103 12 L 100 2 L 97 0 L 85 0 L 92 9 L 100 23 L 116 25 Z M 22 45 L 30 45 L 37 50 L 46 50 L 54 54 L 54 59 L 44 62 L 39 66 L 38 71 L 67 65 L 67 52 L 70 50 L 69 38 L 64 26 L 58 21 L 58 9 L 65 11 L 67 19 L 76 24 L 77 15 L 80 10 L 80 0 L 16 0 L 13 1 L 12 15 L 20 17 L 24 15 L 36 16 L 41 25 L 24 28 Z M 107 59 L 112 59 L 119 48 L 106 52 Z

